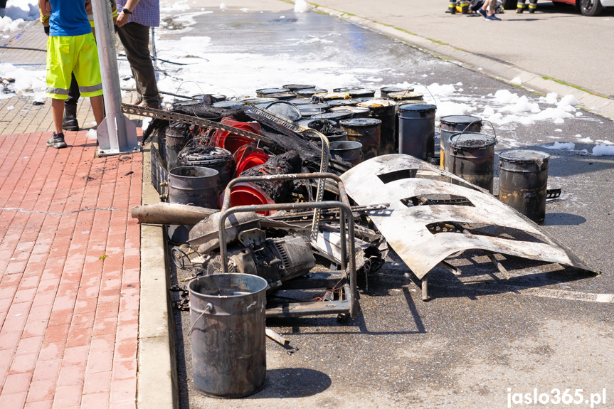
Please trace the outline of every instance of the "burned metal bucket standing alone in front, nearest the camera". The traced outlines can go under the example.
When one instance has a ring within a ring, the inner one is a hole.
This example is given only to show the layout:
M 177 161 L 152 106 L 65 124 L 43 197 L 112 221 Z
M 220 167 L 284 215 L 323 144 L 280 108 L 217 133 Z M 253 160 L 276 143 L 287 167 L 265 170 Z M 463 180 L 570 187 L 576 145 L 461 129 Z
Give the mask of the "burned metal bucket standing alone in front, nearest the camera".
M 206 275 L 189 283 L 192 372 L 199 392 L 242 398 L 263 388 L 267 286 L 248 274 Z

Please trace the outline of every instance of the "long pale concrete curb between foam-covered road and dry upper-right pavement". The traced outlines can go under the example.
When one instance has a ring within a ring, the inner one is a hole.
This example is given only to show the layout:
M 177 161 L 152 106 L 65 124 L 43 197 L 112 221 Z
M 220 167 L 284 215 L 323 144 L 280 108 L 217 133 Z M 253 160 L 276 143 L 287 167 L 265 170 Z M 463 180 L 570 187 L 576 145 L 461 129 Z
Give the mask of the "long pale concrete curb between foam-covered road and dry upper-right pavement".
M 576 97 L 578 102 L 580 102 L 579 106 L 581 106 L 583 109 L 609 119 L 614 119 L 614 100 L 593 95 L 590 92 L 578 90 L 578 88 L 561 84 L 554 80 L 542 78 L 541 75 L 529 73 L 528 71 L 521 70 L 520 68 L 516 68 L 512 65 L 508 65 L 497 60 L 492 60 L 491 58 L 486 58 L 482 55 L 476 55 L 459 48 L 448 46 L 448 44 L 435 43 L 428 38 L 423 38 L 403 31 L 399 28 L 369 20 L 368 18 L 354 16 L 347 14 L 344 11 L 329 9 L 313 3 L 311 3 L 310 6 L 312 6 L 312 10 L 319 13 L 329 14 L 342 20 L 349 21 L 366 28 L 371 28 L 371 30 L 378 31 L 386 36 L 405 41 L 406 43 L 409 43 L 410 45 L 423 51 L 428 51 L 440 57 L 449 58 L 451 60 L 456 60 L 465 68 L 470 68 L 473 70 L 482 68 L 482 70 L 480 70 L 482 73 L 485 73 L 490 77 L 503 80 L 506 83 L 511 83 L 514 78 L 520 78 L 522 81 L 522 88 L 531 92 L 539 92 L 544 95 L 548 92 L 556 92 L 559 94 L 559 97 L 572 94 Z

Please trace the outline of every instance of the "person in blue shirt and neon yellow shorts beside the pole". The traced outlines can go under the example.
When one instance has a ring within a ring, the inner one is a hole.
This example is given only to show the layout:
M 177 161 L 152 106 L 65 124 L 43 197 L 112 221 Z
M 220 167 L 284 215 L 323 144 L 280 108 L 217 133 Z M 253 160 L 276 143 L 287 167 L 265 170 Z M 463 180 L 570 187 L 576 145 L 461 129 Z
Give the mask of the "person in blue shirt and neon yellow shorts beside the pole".
M 62 122 L 73 73 L 81 95 L 90 97 L 96 123 L 104 119 L 98 50 L 85 1 L 75 4 L 75 0 L 38 0 L 38 6 L 49 16 L 46 95 L 51 98 L 55 132 L 47 146 L 60 149 L 66 147 Z

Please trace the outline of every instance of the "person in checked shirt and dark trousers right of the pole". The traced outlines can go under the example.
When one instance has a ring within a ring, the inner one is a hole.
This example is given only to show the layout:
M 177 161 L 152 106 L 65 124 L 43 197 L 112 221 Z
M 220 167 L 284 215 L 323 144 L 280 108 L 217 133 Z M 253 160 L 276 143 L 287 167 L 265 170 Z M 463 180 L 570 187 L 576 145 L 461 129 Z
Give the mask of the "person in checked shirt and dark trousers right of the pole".
M 160 108 L 154 63 L 149 56 L 149 27 L 160 25 L 159 0 L 117 0 L 117 34 L 137 83 L 137 105 Z

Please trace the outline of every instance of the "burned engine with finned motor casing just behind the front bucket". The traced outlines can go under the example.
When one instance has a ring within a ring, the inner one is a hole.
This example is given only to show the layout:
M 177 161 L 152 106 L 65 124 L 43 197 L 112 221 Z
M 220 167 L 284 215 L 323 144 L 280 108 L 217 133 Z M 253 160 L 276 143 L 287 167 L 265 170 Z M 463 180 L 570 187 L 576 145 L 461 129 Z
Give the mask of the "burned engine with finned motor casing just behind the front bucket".
M 243 247 L 229 248 L 228 271 L 263 277 L 270 290 L 307 274 L 315 266 L 309 239 L 304 235 L 287 235 L 283 238 L 266 238 L 263 230 L 243 230 L 240 240 Z M 245 234 L 247 233 L 247 234 Z M 207 274 L 222 272 L 221 257 L 207 266 Z

